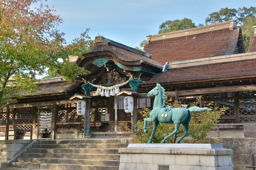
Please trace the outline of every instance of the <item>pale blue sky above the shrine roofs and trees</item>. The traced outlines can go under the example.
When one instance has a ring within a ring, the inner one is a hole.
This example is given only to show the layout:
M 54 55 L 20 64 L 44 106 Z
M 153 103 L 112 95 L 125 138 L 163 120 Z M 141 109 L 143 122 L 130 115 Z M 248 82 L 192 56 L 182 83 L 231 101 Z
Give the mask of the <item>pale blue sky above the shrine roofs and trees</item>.
M 99 34 L 130 47 L 157 34 L 166 20 L 186 17 L 196 25 L 205 24 L 208 14 L 221 8 L 256 6 L 255 0 L 48 0 L 44 4 L 54 4 L 56 14 L 63 18 L 59 30 L 67 42 L 90 28 L 93 40 Z

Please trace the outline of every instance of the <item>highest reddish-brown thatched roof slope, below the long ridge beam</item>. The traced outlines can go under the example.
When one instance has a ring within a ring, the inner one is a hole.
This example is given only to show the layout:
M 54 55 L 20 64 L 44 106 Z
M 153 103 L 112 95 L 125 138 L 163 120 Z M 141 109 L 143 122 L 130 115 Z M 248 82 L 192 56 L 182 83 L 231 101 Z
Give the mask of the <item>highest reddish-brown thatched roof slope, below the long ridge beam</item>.
M 162 64 L 173 61 L 207 58 L 236 53 L 244 53 L 242 31 L 209 30 L 207 32 L 150 41 L 144 50 L 152 54 L 152 60 Z

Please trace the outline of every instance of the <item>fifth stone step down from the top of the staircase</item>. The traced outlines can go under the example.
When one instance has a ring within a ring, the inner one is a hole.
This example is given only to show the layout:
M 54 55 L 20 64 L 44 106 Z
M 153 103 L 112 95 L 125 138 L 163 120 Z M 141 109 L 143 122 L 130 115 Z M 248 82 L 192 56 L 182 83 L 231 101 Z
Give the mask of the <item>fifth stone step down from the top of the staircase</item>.
M 78 164 L 78 165 L 100 165 L 100 166 L 119 166 L 119 160 L 114 159 L 66 159 L 66 158 L 17 158 L 18 162 L 34 162 L 49 164 Z

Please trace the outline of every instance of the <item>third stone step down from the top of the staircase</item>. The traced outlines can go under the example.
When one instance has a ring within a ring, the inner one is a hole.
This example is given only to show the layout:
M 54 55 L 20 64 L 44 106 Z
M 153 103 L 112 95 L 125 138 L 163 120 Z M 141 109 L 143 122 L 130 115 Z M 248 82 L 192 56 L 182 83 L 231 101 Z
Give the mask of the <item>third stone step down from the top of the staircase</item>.
M 41 148 L 29 148 L 27 153 L 78 153 L 78 154 L 118 154 L 118 149 L 107 148 L 65 148 L 65 149 L 41 149 Z

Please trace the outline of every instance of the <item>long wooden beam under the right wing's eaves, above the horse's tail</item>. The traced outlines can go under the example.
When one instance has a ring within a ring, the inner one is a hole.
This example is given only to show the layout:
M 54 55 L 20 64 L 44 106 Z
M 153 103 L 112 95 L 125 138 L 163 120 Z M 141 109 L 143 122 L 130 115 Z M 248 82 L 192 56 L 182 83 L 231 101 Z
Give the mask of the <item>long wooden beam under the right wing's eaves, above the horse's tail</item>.
M 256 91 L 256 85 L 244 85 L 244 86 L 227 86 L 227 87 L 212 87 L 212 88 L 199 88 L 191 90 L 179 91 L 179 96 L 187 95 L 199 95 L 207 93 L 224 93 L 224 92 L 235 92 L 235 91 Z

